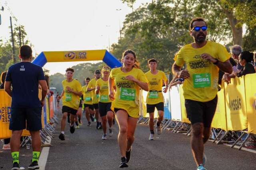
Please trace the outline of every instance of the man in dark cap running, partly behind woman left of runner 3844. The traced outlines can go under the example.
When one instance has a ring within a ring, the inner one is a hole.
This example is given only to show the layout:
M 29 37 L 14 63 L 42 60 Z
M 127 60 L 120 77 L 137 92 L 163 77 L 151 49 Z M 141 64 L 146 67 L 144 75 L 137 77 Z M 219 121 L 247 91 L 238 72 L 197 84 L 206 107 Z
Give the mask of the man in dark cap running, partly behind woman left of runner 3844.
M 94 77 L 87 86 L 87 92 L 92 91 L 92 105 L 94 107 L 94 116 L 97 121 L 96 129 L 102 129 L 101 126 L 101 117 L 99 113 L 99 94 L 96 95 L 95 88 L 96 88 L 96 81 L 100 78 L 101 72 L 100 70 L 95 70 Z

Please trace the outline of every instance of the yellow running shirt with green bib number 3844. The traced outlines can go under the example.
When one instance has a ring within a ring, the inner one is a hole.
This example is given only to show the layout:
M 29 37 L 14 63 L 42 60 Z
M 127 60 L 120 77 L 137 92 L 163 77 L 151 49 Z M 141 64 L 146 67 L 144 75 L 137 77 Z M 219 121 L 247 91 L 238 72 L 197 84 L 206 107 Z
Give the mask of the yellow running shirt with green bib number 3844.
M 130 72 L 122 72 L 121 67 L 113 68 L 110 72 L 110 78 L 114 78 L 116 94 L 112 108 L 124 109 L 131 117 L 138 118 L 140 86 L 133 81 L 126 80 L 126 76 L 134 76 L 137 80 L 148 83 L 145 74 L 138 68 L 132 68 Z

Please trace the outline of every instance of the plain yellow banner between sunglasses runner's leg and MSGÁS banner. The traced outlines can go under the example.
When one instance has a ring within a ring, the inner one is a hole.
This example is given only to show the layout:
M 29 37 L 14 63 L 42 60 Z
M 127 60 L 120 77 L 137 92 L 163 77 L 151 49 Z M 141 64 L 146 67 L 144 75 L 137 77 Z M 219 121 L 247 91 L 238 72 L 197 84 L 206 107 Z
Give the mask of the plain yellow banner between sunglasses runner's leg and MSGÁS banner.
M 221 90 L 218 92 L 218 104 L 214 117 L 212 119 L 212 127 L 227 130 L 227 119 L 226 119 L 226 106 L 225 106 L 225 92 L 224 82 L 222 81 Z

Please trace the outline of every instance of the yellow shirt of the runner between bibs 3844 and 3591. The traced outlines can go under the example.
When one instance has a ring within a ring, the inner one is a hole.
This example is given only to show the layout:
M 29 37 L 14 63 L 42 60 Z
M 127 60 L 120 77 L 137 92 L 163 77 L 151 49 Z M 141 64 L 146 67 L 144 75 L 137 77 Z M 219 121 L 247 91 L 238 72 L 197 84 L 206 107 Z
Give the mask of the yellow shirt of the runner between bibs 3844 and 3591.
M 147 104 L 158 104 L 164 102 L 164 97 L 162 92 L 163 80 L 166 82 L 167 77 L 163 71 L 158 70 L 156 74 L 152 74 L 150 70 L 145 73 L 148 79 L 148 89 L 150 90 L 147 95 Z M 155 92 L 153 92 L 155 91 Z

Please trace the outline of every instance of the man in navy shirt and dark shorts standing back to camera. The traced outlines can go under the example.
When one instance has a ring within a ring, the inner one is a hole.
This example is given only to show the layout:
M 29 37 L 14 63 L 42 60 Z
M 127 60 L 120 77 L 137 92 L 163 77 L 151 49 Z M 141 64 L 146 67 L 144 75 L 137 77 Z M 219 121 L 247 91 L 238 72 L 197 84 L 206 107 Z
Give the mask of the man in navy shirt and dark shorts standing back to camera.
M 42 129 L 41 115 L 47 84 L 44 72 L 40 66 L 30 63 L 32 49 L 28 45 L 20 47 L 21 62 L 8 68 L 4 90 L 12 97 L 10 127 L 12 137 L 10 141 L 13 158 L 12 170 L 19 170 L 20 137 L 23 129 L 30 131 L 32 136 L 33 158 L 29 169 L 39 169 L 38 158 L 41 151 L 39 131 Z M 42 99 L 38 98 L 38 84 L 42 87 Z M 11 89 L 12 86 L 12 89 Z

